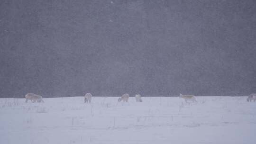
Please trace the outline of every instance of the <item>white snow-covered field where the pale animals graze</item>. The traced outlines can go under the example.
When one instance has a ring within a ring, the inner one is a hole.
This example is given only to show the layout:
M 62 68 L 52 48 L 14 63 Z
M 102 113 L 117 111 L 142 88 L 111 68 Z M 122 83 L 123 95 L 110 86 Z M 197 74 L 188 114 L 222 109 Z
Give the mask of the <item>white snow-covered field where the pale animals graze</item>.
M 247 97 L 0 99 L 0 144 L 256 144 Z

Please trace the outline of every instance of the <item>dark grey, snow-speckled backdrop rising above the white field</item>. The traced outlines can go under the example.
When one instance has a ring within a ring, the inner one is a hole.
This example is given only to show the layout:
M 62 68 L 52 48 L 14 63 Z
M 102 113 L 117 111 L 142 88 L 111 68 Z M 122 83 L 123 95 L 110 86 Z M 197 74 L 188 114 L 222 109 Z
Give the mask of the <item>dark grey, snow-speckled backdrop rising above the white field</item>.
M 0 0 L 0 97 L 256 93 L 256 0 Z

